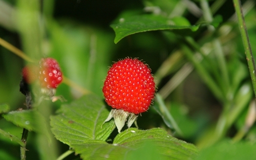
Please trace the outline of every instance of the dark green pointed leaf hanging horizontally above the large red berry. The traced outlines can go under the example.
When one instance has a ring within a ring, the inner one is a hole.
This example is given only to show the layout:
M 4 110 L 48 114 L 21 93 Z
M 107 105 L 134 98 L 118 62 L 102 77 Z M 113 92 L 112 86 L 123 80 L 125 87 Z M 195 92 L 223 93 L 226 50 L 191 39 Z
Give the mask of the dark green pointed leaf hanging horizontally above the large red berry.
M 196 31 L 197 26 L 176 26 L 171 19 L 161 15 L 138 15 L 121 18 L 118 24 L 112 24 L 111 27 L 116 33 L 114 42 L 117 43 L 122 38 L 146 31 L 171 30 L 171 29 L 190 29 Z

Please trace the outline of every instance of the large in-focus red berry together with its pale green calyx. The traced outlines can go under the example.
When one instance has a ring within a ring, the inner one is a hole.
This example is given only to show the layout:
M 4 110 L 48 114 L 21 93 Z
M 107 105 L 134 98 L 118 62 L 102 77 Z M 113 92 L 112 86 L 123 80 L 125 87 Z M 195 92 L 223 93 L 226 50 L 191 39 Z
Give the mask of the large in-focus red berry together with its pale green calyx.
M 139 113 L 151 105 L 155 95 L 154 77 L 150 68 L 137 58 L 125 58 L 110 67 L 102 91 L 106 103 L 113 108 L 106 121 L 114 117 L 120 132 L 127 118 L 130 127 Z

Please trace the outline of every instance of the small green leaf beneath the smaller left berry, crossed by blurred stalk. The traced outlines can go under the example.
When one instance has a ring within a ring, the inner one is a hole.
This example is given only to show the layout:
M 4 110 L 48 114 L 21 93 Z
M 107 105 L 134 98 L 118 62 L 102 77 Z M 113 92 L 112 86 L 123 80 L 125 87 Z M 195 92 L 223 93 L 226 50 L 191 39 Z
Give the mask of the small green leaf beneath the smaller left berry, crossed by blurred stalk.
M 46 130 L 44 117 L 35 110 L 11 111 L 3 117 L 13 124 L 29 131 L 42 133 Z

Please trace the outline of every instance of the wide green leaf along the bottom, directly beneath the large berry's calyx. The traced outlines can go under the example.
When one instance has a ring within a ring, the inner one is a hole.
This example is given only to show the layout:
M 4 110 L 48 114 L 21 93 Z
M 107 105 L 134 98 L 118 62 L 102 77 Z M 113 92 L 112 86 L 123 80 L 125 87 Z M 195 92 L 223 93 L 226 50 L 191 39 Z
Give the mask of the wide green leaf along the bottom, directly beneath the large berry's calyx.
M 71 145 L 83 159 L 194 159 L 198 149 L 169 135 L 161 128 L 130 128 L 119 133 L 113 144 L 87 141 Z

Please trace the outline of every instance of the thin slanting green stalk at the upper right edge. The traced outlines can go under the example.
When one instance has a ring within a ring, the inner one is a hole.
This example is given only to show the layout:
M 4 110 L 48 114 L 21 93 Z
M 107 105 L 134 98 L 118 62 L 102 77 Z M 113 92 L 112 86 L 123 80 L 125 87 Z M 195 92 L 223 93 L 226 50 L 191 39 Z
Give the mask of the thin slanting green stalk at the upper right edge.
M 256 96 L 256 75 L 255 75 L 256 67 L 255 67 L 255 62 L 254 62 L 254 58 L 251 51 L 251 45 L 250 45 L 250 41 L 249 41 L 247 29 L 246 29 L 244 15 L 242 11 L 242 5 L 239 0 L 233 0 L 233 4 L 234 4 L 234 10 L 236 11 L 238 16 L 238 25 L 239 25 L 239 29 L 242 36 L 244 49 L 245 49 L 245 55 L 246 55 L 246 59 L 249 67 L 254 95 Z

